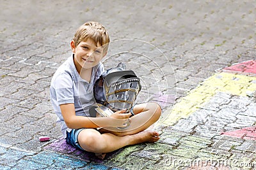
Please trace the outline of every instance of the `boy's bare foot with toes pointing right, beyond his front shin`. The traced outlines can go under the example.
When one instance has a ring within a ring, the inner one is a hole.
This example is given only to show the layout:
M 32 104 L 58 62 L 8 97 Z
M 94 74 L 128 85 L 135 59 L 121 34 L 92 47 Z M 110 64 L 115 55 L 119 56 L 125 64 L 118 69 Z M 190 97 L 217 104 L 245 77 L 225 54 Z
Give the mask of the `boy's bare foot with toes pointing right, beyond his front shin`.
M 159 133 L 157 133 L 156 131 L 143 131 L 131 136 L 134 139 L 134 144 L 143 142 L 154 143 L 160 139 Z

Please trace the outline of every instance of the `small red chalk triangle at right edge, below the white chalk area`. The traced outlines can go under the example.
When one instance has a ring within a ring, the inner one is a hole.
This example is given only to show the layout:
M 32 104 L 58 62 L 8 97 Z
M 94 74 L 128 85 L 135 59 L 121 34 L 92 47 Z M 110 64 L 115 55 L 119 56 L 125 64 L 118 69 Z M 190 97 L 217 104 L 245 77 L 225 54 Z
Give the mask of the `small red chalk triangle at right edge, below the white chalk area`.
M 256 140 L 256 126 L 245 127 L 236 131 L 221 132 L 221 134 L 241 139 Z

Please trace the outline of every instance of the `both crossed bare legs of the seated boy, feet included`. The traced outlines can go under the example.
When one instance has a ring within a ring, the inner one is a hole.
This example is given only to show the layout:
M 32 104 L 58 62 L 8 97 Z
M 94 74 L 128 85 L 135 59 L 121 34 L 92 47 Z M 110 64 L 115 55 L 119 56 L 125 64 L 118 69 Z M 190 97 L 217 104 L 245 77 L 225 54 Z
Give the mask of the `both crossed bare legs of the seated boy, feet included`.
M 157 132 L 145 131 L 145 129 L 154 124 L 161 116 L 160 106 L 156 103 L 138 104 L 133 111 L 136 115 L 131 118 L 129 128 L 122 130 L 113 128 L 113 131 L 100 129 L 100 132 L 95 129 L 84 129 L 78 136 L 80 146 L 88 152 L 96 153 L 97 157 L 103 159 L 105 153 L 113 152 L 127 145 L 158 141 L 159 134 Z

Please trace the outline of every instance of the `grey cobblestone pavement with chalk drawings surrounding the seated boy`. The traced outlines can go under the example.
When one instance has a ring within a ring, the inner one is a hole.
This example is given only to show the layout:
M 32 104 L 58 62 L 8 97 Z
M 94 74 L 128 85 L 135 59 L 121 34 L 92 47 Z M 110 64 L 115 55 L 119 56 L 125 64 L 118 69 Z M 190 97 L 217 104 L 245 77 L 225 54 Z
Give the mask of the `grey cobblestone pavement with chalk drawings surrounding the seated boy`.
M 0 0 L 1 169 L 255 169 L 255 11 L 249 0 Z M 61 138 L 49 85 L 88 20 L 111 35 L 105 67 L 124 61 L 139 102 L 161 104 L 157 143 L 99 160 Z

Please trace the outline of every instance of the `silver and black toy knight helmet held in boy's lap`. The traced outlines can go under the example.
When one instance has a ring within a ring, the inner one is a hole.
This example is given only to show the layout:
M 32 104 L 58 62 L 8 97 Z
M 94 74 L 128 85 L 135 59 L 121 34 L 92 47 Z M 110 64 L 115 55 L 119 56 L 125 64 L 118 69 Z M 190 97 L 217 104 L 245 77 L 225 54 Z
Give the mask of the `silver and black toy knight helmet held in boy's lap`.
M 134 71 L 125 69 L 125 64 L 120 62 L 118 66 L 104 71 L 93 87 L 97 103 L 112 111 L 131 110 L 141 90 L 141 84 Z

